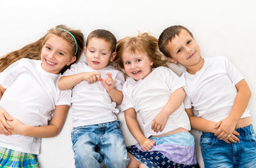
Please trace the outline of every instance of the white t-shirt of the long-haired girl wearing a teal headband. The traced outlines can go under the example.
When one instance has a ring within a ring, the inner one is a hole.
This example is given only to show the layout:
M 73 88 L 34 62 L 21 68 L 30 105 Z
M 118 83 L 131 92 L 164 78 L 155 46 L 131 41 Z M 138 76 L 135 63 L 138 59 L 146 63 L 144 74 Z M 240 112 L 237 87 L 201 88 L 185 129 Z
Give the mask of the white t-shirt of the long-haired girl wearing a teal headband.
M 40 60 L 20 59 L 0 73 L 0 85 L 6 88 L 0 107 L 25 125 L 48 125 L 55 106 L 70 106 L 71 90 L 58 90 L 59 78 L 41 69 Z M 39 154 L 41 138 L 1 134 L 0 146 Z

